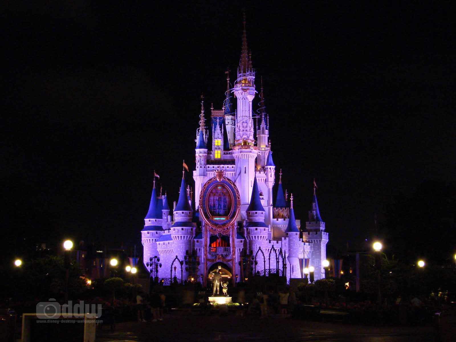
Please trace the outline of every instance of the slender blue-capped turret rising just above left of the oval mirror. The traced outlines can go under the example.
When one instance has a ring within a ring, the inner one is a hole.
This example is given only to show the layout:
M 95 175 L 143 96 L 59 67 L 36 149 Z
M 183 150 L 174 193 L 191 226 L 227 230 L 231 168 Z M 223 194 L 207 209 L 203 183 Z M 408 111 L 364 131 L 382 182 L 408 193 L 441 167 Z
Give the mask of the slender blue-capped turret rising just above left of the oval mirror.
M 195 207 L 199 206 L 199 194 L 207 177 L 207 135 L 204 127 L 204 102 L 201 100 L 200 127 L 197 133 L 197 146 L 195 148 L 196 170 L 193 171 L 195 181 Z

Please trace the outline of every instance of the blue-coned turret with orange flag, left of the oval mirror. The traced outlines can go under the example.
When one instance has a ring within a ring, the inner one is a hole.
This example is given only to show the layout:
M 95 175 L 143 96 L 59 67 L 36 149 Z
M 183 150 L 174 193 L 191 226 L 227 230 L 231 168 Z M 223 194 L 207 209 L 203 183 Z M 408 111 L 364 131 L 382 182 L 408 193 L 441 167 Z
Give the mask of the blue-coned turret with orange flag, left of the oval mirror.
M 171 238 L 173 241 L 173 255 L 182 261 L 186 253 L 192 252 L 192 240 L 195 236 L 196 223 L 192 222 L 193 210 L 188 202 L 187 189 L 185 187 L 184 172 L 182 171 L 181 191 L 179 200 L 174 209 L 174 224 L 171 226 Z M 174 258 L 173 258 L 174 259 Z M 171 264 L 171 261 L 170 261 Z M 180 272 L 181 266 L 177 263 Z M 183 280 L 187 280 L 188 272 L 183 270 Z M 180 278 L 180 275 L 178 276 Z

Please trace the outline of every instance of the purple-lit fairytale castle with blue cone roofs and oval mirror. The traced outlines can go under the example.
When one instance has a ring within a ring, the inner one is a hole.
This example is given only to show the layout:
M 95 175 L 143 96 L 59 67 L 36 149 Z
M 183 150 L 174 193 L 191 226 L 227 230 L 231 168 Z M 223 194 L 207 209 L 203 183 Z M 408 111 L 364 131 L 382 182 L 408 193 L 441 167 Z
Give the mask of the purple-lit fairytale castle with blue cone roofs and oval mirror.
M 144 265 L 164 284 L 177 279 L 205 285 L 214 269 L 230 277 L 233 285 L 254 275 L 279 273 L 287 280 L 302 278 L 310 266 L 315 269 L 314 279 L 322 279 L 328 233 L 318 210 L 315 182 L 305 226 L 295 219 L 293 196 L 289 199 L 286 191 L 284 195 L 281 170 L 273 198 L 276 170 L 269 142 L 269 115 L 262 85 L 257 114 L 252 111 L 257 90 L 245 18 L 233 87 L 227 75 L 223 109 L 211 108 L 210 130 L 205 126 L 201 102 L 193 170 L 195 207 L 185 170 L 172 211 L 167 196 L 157 193 L 154 175 L 141 231 Z

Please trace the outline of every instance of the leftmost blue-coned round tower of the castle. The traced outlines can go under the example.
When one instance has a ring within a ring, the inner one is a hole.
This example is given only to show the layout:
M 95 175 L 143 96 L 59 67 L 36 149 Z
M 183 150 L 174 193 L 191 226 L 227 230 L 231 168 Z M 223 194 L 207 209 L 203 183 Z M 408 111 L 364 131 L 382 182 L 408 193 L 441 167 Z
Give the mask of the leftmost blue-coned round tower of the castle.
M 154 171 L 155 175 L 155 171 Z M 159 203 L 154 187 L 152 188 L 152 196 L 150 197 L 149 210 L 144 218 L 144 228 L 141 230 L 141 243 L 143 245 L 143 263 L 149 262 L 149 258 L 159 256 L 157 252 L 156 241 L 163 234 L 163 216 L 161 210 L 158 209 Z

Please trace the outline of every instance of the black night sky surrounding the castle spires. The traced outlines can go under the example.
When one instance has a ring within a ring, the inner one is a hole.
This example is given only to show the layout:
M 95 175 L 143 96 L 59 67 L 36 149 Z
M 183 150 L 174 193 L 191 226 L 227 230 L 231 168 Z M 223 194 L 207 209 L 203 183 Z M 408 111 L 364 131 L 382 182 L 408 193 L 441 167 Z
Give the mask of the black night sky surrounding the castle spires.
M 3 6 L 2 225 L 11 246 L 88 233 L 139 243 L 154 169 L 176 200 L 182 159 L 194 167 L 200 94 L 208 118 L 211 102 L 222 106 L 227 67 L 235 77 L 242 7 Z M 306 218 L 315 177 L 330 244 L 356 247 L 395 193 L 455 181 L 449 8 L 245 7 L 274 161 L 297 218 Z

